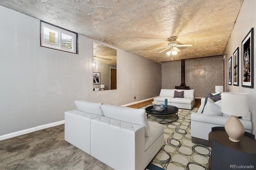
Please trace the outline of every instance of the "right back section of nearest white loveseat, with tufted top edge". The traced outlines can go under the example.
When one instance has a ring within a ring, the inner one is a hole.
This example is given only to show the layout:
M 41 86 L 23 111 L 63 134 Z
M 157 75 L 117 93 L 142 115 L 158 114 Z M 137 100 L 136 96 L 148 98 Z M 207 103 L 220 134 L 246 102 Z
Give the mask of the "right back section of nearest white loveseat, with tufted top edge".
M 91 156 L 114 169 L 144 169 L 145 127 L 108 117 L 91 120 Z

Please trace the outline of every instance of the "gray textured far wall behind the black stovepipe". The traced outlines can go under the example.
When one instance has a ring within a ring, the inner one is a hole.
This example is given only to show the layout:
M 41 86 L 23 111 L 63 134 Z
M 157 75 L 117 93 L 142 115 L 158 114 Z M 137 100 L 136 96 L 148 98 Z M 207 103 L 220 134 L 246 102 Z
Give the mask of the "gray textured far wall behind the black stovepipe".
M 195 97 L 214 93 L 223 85 L 222 56 L 185 60 L 185 83 L 195 89 Z M 181 61 L 162 63 L 162 88 L 175 89 L 181 84 Z

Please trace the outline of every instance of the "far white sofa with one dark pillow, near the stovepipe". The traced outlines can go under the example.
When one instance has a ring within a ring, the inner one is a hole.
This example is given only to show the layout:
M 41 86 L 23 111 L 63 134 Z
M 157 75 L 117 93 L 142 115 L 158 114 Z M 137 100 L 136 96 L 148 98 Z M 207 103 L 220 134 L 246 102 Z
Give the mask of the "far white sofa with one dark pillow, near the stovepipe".
M 184 91 L 183 97 L 175 97 L 174 92 Z M 192 90 L 180 90 L 180 89 L 161 89 L 160 95 L 154 98 L 154 101 L 158 103 L 164 103 L 164 99 L 167 99 L 168 105 L 176 106 L 180 109 L 192 109 L 195 105 L 194 89 Z

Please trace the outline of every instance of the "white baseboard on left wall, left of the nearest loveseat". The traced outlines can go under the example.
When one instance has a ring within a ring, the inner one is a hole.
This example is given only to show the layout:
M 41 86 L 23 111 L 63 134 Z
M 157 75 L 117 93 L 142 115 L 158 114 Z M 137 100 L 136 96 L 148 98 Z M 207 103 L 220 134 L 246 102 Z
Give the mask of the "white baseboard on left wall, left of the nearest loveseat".
M 58 121 L 58 122 L 49 123 L 49 124 L 46 124 L 46 125 L 40 125 L 40 126 L 37 126 L 37 127 L 20 130 L 20 131 L 9 133 L 9 134 L 4 134 L 4 135 L 0 136 L 0 140 L 5 140 L 5 139 L 8 139 L 8 138 L 13 138 L 13 137 L 16 137 L 16 136 L 20 136 L 22 134 L 27 134 L 27 133 L 30 133 L 30 132 L 35 132 L 37 130 L 42 130 L 44 128 L 49 128 L 49 127 L 54 127 L 54 126 L 62 125 L 64 123 L 65 123 L 65 121 Z

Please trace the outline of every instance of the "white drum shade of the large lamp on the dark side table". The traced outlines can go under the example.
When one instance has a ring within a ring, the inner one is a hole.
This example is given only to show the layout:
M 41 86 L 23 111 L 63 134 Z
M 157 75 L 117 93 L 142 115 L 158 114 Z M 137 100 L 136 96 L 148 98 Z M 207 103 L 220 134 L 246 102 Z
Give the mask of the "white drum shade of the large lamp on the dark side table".
M 221 112 L 232 116 L 247 116 L 249 97 L 247 93 L 221 93 Z

